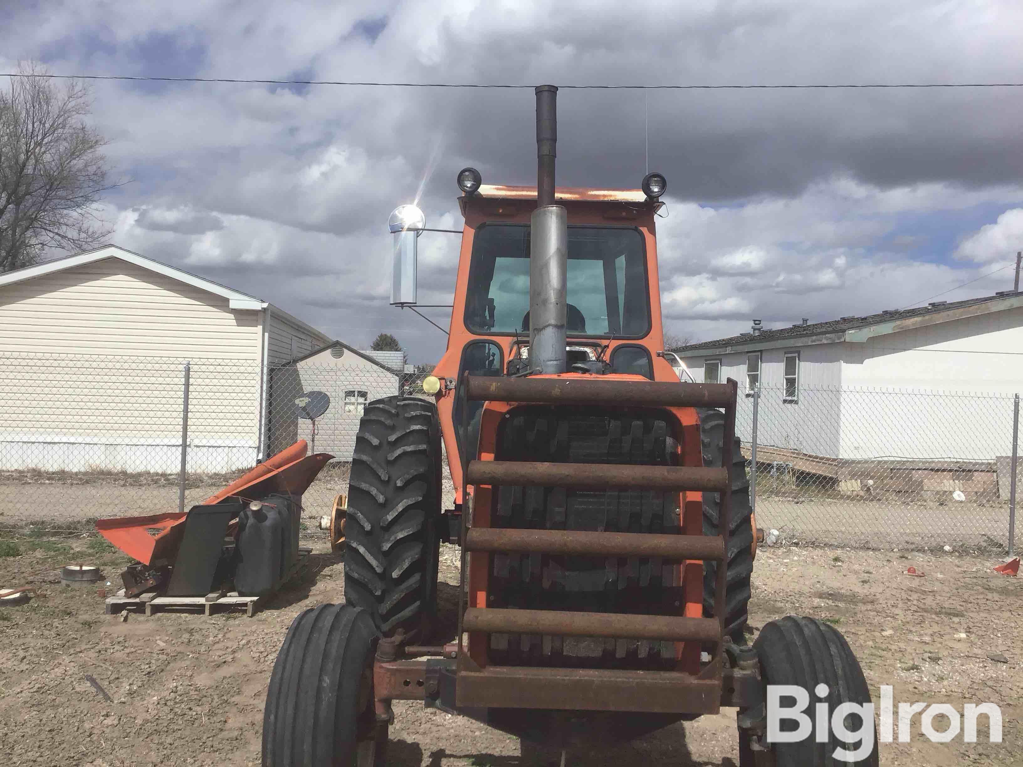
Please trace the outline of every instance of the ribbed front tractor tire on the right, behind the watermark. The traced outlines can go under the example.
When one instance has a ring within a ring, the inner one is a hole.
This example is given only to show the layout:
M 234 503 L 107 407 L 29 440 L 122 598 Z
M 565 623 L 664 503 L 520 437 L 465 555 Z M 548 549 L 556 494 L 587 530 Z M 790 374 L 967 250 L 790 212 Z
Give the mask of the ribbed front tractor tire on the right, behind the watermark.
M 800 687 L 806 693 L 807 707 L 802 712 L 811 723 L 806 737 L 796 742 L 770 742 L 765 736 L 767 701 L 753 709 L 741 709 L 739 723 L 747 729 L 739 730 L 740 767 L 832 767 L 840 764 L 877 767 L 878 737 L 873 712 L 869 718 L 863 713 L 846 713 L 842 724 L 852 742 L 840 739 L 833 731 L 832 715 L 842 704 L 863 706 L 871 703 L 871 690 L 863 678 L 859 662 L 852 653 L 845 637 L 834 627 L 812 618 L 788 616 L 771 621 L 757 636 L 752 650 L 760 664 L 763 683 Z M 818 685 L 826 685 L 827 692 Z M 827 705 L 828 718 L 825 742 L 817 742 L 816 705 Z M 792 707 L 792 696 L 783 695 L 781 705 Z M 755 728 L 751 723 L 759 721 Z M 795 732 L 799 723 L 782 718 L 779 729 L 784 734 Z M 858 737 L 857 737 L 858 735 Z M 844 750 L 845 754 L 837 750 Z M 858 754 L 859 751 L 864 752 Z M 759 752 L 759 754 L 758 754 Z

